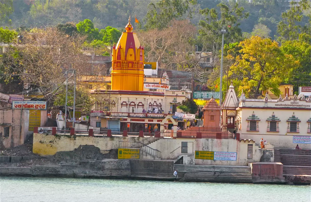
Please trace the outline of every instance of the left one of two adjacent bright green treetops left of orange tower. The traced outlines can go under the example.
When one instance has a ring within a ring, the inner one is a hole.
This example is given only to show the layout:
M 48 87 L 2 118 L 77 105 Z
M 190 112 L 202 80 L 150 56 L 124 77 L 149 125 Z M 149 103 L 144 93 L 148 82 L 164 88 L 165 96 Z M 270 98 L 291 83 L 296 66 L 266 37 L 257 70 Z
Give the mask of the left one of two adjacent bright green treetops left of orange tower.
M 89 19 L 80 21 L 76 26 L 79 34 L 87 35 L 88 41 L 92 41 L 94 39 L 100 40 L 102 38 L 99 30 L 94 27 L 93 22 Z

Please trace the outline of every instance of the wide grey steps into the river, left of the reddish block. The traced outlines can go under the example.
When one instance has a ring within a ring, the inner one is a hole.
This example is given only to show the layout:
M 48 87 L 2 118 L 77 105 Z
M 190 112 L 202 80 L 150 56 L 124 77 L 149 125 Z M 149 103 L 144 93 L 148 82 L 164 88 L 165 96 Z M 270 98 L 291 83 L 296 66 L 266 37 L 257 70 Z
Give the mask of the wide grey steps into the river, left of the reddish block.
M 253 183 L 249 166 L 211 166 L 174 164 L 174 170 L 185 172 L 184 181 Z M 182 180 L 183 180 L 182 179 Z

